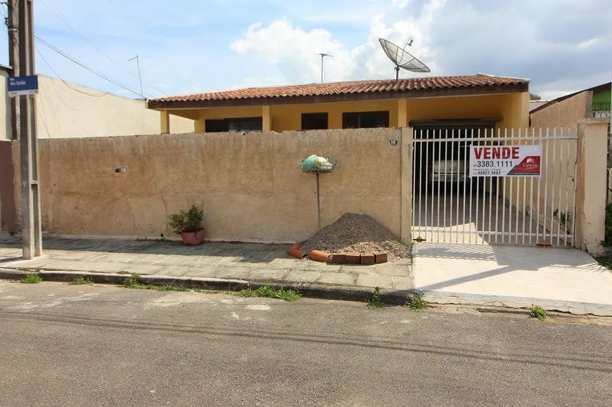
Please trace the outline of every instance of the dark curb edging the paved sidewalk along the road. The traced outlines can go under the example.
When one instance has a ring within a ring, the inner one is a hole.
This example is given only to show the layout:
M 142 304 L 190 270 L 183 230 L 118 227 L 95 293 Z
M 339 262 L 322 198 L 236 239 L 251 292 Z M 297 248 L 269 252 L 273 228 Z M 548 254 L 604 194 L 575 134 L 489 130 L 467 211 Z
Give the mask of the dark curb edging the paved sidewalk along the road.
M 34 271 L 0 269 L 0 279 L 21 280 L 29 274 L 38 274 L 44 281 L 69 283 L 81 276 L 98 284 L 123 285 L 129 274 L 93 273 L 87 271 Z M 197 278 L 175 276 L 138 276 L 139 283 L 151 285 L 186 285 L 190 288 L 211 291 L 239 291 L 244 288 L 257 289 L 264 285 L 297 290 L 303 297 L 366 302 L 372 297 L 374 288 L 317 283 L 288 283 L 260 280 L 235 280 L 227 278 Z M 414 295 L 412 290 L 381 290 L 381 301 L 389 305 L 405 305 Z

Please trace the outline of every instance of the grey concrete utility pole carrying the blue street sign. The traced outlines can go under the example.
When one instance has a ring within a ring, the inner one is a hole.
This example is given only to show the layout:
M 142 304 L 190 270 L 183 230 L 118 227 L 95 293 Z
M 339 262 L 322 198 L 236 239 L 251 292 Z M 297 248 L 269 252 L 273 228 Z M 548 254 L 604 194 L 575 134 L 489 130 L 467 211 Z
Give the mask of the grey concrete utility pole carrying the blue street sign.
M 36 75 L 33 3 L 33 0 L 19 0 L 19 69 L 13 72 L 15 76 Z M 21 95 L 19 103 L 23 258 L 32 259 L 42 254 L 36 96 Z

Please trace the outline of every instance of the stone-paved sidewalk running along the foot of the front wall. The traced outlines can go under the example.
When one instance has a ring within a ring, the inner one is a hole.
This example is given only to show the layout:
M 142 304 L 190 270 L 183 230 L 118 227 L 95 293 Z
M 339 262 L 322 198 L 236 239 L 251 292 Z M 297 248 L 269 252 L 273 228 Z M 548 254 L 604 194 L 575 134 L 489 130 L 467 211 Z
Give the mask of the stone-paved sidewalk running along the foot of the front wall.
M 44 255 L 21 258 L 21 240 L 0 237 L 0 269 L 136 273 L 141 276 L 224 278 L 306 287 L 409 291 L 409 261 L 351 266 L 299 260 L 288 245 L 205 243 L 186 247 L 176 241 L 45 238 Z

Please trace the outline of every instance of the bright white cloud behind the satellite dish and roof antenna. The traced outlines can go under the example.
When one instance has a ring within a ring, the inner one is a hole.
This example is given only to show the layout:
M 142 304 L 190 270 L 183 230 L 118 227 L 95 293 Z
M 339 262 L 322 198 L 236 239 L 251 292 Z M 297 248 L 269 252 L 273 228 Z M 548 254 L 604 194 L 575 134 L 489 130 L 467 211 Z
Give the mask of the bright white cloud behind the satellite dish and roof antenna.
M 409 51 L 435 68 L 426 30 L 442 4 L 443 1 L 432 1 L 421 14 L 390 23 L 384 14 L 370 17 L 366 41 L 352 48 L 334 39 L 329 30 L 304 30 L 286 18 L 269 25 L 261 22 L 251 25 L 243 38 L 231 43 L 230 48 L 242 56 L 267 64 L 269 69 L 278 70 L 284 83 L 319 82 L 321 58 L 317 53 L 333 55 L 333 58 L 324 60 L 326 82 L 390 78 L 394 76 L 393 63 L 383 53 L 378 38 L 385 37 L 402 46 L 409 38 L 414 39 Z M 402 72 L 402 75 L 409 74 Z

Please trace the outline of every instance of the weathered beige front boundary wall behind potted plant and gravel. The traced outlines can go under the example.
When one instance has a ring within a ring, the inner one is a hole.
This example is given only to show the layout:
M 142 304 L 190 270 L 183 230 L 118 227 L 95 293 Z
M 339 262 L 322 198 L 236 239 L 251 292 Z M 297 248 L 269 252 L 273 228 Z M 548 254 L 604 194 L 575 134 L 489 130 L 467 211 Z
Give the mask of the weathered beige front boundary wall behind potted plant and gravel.
M 302 240 L 317 231 L 317 196 L 299 163 L 317 154 L 339 160 L 320 176 L 323 225 L 364 212 L 400 235 L 412 211 L 402 207 L 401 138 L 400 129 L 359 129 L 42 140 L 44 230 L 167 236 L 167 215 L 195 202 L 208 238 Z

